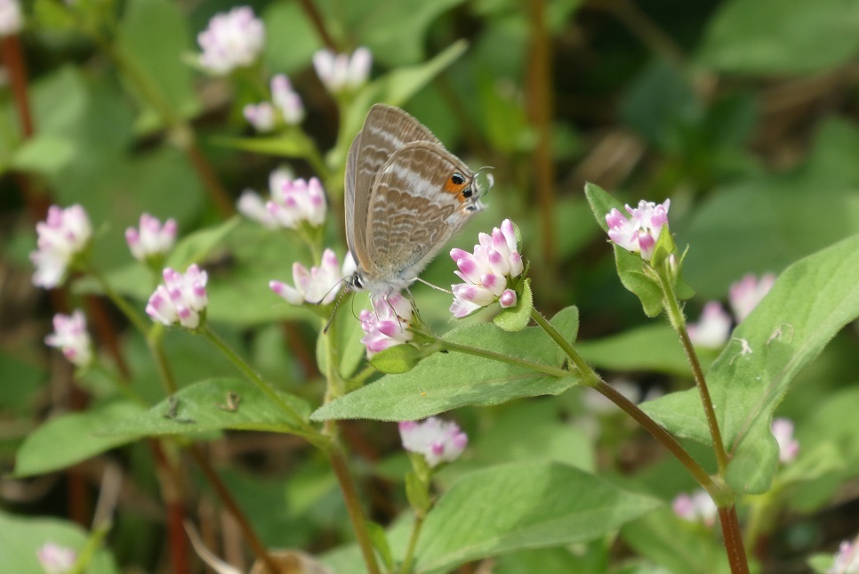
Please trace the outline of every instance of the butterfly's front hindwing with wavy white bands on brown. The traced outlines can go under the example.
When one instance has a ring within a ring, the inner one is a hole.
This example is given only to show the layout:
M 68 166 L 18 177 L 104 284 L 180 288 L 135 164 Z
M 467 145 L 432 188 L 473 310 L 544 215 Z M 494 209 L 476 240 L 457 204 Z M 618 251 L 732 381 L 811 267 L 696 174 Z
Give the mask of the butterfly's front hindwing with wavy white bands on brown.
M 367 213 L 369 276 L 414 279 L 472 210 L 448 189 L 451 176 L 474 174 L 439 143 L 414 141 L 395 151 L 373 182 Z

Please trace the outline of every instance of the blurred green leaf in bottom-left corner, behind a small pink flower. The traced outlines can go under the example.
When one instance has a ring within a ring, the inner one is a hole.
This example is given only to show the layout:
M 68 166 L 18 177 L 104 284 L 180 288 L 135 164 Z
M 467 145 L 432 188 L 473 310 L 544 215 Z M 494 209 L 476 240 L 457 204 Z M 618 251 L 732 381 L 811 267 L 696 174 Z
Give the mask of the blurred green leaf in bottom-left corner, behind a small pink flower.
M 36 556 L 39 548 L 52 542 L 80 553 L 87 544 L 87 532 L 77 524 L 56 518 L 23 518 L 0 511 L 0 563 L 5 572 L 44 572 Z M 113 556 L 99 548 L 82 570 L 84 574 L 119 574 Z

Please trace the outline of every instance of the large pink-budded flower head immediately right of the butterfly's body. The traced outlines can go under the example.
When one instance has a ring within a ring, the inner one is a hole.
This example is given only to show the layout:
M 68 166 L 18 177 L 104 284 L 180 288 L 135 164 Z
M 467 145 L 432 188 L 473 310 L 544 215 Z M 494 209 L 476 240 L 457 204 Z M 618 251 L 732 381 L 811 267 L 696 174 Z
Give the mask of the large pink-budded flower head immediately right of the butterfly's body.
M 459 271 L 454 271 L 464 283 L 452 285 L 454 303 L 450 311 L 456 318 L 462 318 L 498 301 L 503 308 L 513 307 L 518 296 L 508 288 L 508 280 L 518 277 L 525 271 L 522 256 L 516 245 L 516 232 L 513 223 L 505 219 L 501 229 L 494 228 L 492 234 L 480 233 L 479 244 L 474 253 L 453 249 L 451 258 Z

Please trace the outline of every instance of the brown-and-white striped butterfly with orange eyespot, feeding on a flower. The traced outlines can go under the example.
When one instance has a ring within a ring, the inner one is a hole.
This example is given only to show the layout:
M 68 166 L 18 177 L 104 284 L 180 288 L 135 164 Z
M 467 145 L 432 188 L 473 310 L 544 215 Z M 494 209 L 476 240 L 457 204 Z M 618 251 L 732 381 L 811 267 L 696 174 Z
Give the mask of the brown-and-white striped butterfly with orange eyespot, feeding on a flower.
M 411 285 L 484 208 L 482 191 L 429 128 L 375 104 L 346 162 L 346 238 L 357 264 L 346 287 L 387 297 Z

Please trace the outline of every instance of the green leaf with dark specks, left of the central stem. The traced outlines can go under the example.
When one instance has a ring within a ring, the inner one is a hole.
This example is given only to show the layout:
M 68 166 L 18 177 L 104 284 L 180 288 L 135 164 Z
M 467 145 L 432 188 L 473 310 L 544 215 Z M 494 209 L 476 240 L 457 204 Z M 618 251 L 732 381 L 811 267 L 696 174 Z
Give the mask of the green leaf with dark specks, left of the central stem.
M 235 410 L 229 410 L 230 392 L 237 395 Z M 301 416 L 309 414 L 309 405 L 304 400 L 287 392 L 277 391 L 277 394 Z M 245 379 L 199 381 L 181 389 L 173 397 L 162 400 L 140 416 L 104 424 L 99 434 L 126 440 L 144 436 L 212 433 L 223 429 L 301 434 L 297 421 L 269 399 L 269 395 Z

